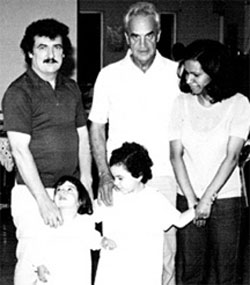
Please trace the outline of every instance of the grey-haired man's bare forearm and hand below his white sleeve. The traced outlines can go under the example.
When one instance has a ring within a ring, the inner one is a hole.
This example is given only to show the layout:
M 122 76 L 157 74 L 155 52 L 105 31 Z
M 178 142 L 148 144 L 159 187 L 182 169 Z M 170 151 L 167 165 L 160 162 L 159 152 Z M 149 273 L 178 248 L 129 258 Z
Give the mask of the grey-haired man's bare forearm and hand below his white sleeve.
M 113 203 L 113 177 L 107 161 L 106 124 L 92 122 L 90 127 L 90 142 L 93 156 L 99 173 L 98 198 L 107 206 Z

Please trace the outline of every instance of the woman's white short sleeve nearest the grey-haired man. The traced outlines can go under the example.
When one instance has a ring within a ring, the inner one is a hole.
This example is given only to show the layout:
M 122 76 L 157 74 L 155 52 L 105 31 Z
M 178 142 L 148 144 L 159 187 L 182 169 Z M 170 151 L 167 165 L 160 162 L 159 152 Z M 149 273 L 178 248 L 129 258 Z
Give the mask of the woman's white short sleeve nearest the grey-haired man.
M 179 95 L 173 104 L 170 115 L 168 138 L 169 141 L 181 138 L 181 130 L 184 119 L 184 100 L 183 95 Z

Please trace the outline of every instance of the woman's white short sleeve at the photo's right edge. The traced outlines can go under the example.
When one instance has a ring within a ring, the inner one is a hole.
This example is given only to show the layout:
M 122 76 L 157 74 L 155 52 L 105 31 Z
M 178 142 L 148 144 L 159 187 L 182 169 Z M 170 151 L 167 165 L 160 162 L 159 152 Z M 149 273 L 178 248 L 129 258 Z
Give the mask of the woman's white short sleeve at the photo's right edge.
M 250 131 L 250 103 L 246 96 L 237 94 L 232 108 L 230 136 L 247 139 Z

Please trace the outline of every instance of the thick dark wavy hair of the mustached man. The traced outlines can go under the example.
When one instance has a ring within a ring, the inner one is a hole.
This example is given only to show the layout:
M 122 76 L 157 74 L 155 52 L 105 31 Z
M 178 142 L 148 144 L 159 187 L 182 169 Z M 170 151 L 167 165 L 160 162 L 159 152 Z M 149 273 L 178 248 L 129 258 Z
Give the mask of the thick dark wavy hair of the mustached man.
M 48 37 L 54 40 L 56 37 L 62 37 L 63 53 L 65 57 L 71 56 L 73 48 L 68 37 L 69 28 L 63 23 L 55 19 L 42 19 L 32 22 L 25 31 L 24 37 L 21 41 L 20 47 L 24 52 L 25 61 L 30 66 L 31 58 L 29 53 L 33 52 L 35 36 Z

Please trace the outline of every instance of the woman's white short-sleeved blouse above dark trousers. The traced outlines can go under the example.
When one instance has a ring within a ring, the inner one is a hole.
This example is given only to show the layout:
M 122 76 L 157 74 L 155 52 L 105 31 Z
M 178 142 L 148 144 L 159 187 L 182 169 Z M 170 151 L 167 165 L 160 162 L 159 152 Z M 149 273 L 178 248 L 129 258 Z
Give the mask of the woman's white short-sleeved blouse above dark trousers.
M 242 94 L 204 107 L 198 97 L 181 94 L 175 101 L 169 140 L 181 140 L 189 179 L 200 198 L 226 156 L 230 136 L 246 139 L 250 129 L 250 103 Z M 179 194 L 182 192 L 179 190 Z M 218 198 L 241 195 L 236 167 Z

